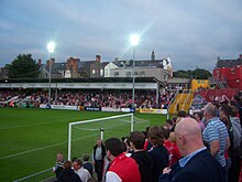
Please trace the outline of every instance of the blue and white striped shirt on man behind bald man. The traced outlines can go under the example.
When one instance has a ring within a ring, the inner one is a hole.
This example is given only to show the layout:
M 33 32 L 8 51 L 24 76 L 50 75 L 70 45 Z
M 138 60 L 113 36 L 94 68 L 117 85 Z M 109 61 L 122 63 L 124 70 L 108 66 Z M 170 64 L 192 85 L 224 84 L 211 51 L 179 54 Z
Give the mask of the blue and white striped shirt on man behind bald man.
M 202 137 L 204 140 L 208 142 L 210 147 L 212 141 L 219 141 L 220 148 L 216 156 L 216 159 L 220 162 L 222 167 L 224 167 L 226 165 L 224 151 L 226 151 L 227 138 L 229 137 L 226 125 L 217 117 L 211 118 L 210 120 L 208 120 L 207 126 L 205 127 Z

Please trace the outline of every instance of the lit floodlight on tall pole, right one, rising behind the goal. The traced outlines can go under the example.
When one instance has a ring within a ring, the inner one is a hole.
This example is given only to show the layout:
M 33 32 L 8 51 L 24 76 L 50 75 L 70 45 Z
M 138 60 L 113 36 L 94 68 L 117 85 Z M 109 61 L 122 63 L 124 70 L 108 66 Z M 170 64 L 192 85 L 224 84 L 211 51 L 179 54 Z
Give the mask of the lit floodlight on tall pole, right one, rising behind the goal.
M 133 47 L 133 89 L 132 89 L 132 108 L 135 109 L 134 107 L 134 83 L 135 83 L 135 76 L 134 76 L 134 67 L 135 67 L 135 46 L 139 44 L 140 38 L 138 34 L 132 34 L 130 36 L 130 43 L 131 46 Z

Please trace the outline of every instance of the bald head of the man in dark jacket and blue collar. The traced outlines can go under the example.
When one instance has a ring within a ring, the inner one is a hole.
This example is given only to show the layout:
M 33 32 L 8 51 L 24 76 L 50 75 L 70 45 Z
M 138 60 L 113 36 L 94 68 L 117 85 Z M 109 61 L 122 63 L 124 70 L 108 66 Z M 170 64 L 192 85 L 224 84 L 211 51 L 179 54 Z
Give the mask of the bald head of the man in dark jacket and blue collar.
M 183 157 L 205 147 L 201 129 L 193 118 L 184 118 L 175 128 L 176 143 Z

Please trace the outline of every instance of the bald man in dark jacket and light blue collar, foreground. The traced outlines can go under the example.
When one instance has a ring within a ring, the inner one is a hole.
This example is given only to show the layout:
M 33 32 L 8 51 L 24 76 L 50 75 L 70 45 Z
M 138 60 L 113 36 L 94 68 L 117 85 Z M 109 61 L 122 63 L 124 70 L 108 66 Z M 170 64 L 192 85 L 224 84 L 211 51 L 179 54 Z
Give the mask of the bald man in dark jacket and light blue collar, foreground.
M 193 118 L 184 118 L 175 128 L 182 158 L 170 169 L 165 168 L 160 182 L 224 182 L 219 162 L 202 142 L 201 129 Z

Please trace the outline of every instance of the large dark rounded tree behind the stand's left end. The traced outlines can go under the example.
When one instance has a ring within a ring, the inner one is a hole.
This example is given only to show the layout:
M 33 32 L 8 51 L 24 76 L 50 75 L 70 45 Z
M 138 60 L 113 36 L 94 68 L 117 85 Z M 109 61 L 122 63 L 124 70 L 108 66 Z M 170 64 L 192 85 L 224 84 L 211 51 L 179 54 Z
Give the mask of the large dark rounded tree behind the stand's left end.
M 9 69 L 9 78 L 36 78 L 40 74 L 40 67 L 31 54 L 18 55 L 11 64 L 6 65 L 6 68 Z

